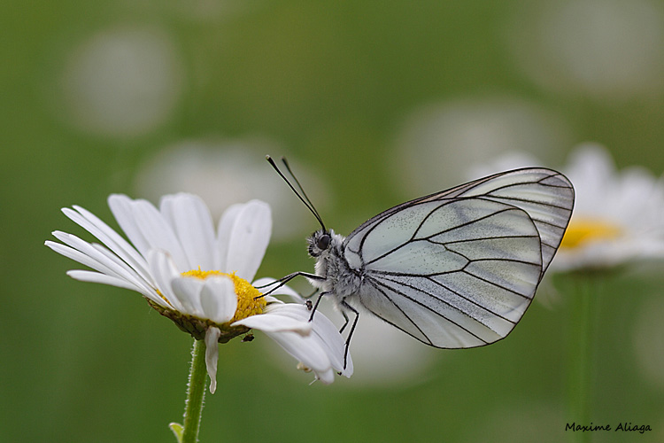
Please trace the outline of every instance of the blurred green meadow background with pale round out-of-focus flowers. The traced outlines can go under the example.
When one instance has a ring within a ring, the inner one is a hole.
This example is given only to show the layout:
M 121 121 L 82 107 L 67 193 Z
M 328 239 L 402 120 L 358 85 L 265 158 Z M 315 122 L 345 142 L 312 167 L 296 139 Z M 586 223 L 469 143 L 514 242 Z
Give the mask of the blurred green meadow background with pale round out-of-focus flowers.
M 115 226 L 112 192 L 266 198 L 275 241 L 259 276 L 282 276 L 313 268 L 316 223 L 290 211 L 266 153 L 297 164 L 344 234 L 510 149 L 555 167 L 591 140 L 619 167 L 664 170 L 660 1 L 10 1 L 0 29 L 0 441 L 174 441 L 166 424 L 181 420 L 191 338 L 137 294 L 65 275 L 79 267 L 43 246 L 55 229 L 82 235 L 63 206 Z M 662 349 L 663 283 L 652 265 L 605 284 L 591 420 L 653 431 L 595 441 L 664 440 L 664 357 L 653 370 L 635 350 Z M 350 380 L 308 385 L 259 333 L 221 346 L 200 439 L 569 439 L 556 287 L 495 346 L 413 356 L 426 346 L 408 339 L 397 361 L 426 366 L 394 379 L 356 350 Z

